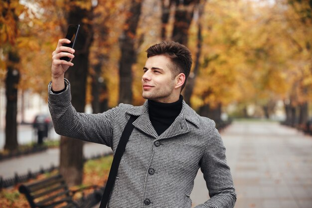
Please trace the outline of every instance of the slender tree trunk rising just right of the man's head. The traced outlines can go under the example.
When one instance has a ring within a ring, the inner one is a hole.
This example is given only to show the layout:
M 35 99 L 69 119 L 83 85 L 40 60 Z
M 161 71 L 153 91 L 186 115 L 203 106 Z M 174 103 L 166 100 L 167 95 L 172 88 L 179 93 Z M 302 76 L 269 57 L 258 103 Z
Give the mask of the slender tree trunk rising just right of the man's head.
M 193 71 L 190 73 L 185 89 L 184 89 L 184 101 L 191 106 L 191 96 L 193 94 L 194 86 L 195 86 L 195 80 L 199 71 L 199 58 L 201 55 L 201 44 L 202 44 L 202 36 L 201 36 L 201 16 L 203 13 L 205 5 L 198 5 L 198 22 L 197 22 L 197 51 L 195 55 L 195 65 L 193 68 Z

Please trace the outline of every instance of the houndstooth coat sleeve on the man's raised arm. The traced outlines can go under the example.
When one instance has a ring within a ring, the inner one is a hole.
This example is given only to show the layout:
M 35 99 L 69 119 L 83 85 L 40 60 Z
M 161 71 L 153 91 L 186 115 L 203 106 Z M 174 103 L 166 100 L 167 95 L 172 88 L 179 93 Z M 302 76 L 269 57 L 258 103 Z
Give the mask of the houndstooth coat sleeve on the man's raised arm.
M 48 106 L 55 132 L 59 135 L 112 146 L 113 126 L 119 111 L 116 107 L 99 114 L 78 113 L 71 104 L 70 83 L 66 90 L 54 94 L 48 86 Z

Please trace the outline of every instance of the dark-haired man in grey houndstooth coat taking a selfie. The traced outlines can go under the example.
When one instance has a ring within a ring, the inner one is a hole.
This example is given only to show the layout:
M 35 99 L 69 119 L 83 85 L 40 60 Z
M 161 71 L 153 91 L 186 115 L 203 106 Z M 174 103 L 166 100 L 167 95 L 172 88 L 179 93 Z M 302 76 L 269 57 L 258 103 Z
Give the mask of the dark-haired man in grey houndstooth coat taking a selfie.
M 64 72 L 74 50 L 60 39 L 52 58 L 49 108 L 55 131 L 105 144 L 114 154 L 130 116 L 138 116 L 120 162 L 108 208 L 191 208 L 200 168 L 210 199 L 196 208 L 233 208 L 236 194 L 225 147 L 215 123 L 200 117 L 180 95 L 189 75 L 190 51 L 176 42 L 151 46 L 143 68 L 143 106 L 120 104 L 100 114 L 78 113 Z M 64 52 L 62 52 L 64 51 Z M 64 81 L 65 80 L 65 81 Z

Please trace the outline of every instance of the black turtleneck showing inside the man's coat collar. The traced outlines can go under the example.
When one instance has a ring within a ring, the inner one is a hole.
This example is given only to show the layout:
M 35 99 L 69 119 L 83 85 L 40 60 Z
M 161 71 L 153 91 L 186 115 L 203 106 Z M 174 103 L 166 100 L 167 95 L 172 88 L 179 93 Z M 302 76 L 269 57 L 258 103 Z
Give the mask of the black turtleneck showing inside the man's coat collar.
M 174 103 L 159 103 L 149 100 L 149 114 L 151 123 L 158 136 L 162 134 L 180 114 L 182 109 L 183 96 Z

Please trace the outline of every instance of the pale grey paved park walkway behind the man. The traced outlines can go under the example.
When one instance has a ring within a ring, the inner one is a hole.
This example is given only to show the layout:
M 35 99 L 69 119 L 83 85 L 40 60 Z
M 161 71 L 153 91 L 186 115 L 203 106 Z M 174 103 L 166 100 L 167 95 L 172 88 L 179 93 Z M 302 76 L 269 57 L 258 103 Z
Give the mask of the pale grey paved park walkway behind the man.
M 273 122 L 235 122 L 221 135 L 236 187 L 235 208 L 312 208 L 312 136 Z M 107 150 L 87 144 L 84 154 Z M 57 166 L 58 157 L 54 149 L 3 161 L 0 175 Z M 193 207 L 209 199 L 200 171 L 191 199 Z

